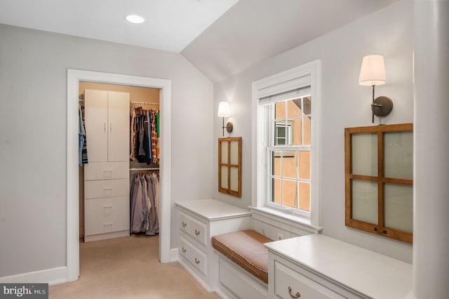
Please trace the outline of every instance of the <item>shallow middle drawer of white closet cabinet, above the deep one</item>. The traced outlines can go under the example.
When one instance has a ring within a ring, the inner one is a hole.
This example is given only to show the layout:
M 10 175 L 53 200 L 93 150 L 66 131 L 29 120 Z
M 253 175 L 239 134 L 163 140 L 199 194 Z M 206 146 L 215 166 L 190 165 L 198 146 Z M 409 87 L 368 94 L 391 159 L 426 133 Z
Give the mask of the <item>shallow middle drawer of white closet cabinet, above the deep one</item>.
M 129 195 L 129 180 L 86 180 L 84 197 L 95 199 L 100 197 L 124 197 Z

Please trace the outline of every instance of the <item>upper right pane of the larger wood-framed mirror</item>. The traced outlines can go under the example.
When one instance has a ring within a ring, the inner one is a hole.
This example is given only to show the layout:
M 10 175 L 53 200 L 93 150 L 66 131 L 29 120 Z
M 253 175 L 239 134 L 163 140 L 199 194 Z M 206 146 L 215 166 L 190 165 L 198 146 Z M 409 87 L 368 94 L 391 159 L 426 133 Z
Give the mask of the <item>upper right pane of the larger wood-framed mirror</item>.
M 413 179 L 413 132 L 384 134 L 384 175 Z

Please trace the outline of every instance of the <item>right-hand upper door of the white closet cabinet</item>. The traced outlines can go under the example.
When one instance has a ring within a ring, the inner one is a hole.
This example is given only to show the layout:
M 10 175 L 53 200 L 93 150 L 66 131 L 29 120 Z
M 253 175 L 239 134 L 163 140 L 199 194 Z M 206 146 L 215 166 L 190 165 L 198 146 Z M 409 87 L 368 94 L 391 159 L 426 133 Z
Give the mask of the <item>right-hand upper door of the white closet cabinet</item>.
M 108 161 L 129 161 L 129 93 L 108 94 Z

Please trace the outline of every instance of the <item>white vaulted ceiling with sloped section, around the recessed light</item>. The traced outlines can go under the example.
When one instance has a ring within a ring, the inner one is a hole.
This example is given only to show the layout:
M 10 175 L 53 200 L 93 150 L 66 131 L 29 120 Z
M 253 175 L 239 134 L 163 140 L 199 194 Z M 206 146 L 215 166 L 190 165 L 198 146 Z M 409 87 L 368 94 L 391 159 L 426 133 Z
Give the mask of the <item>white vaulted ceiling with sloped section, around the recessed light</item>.
M 181 53 L 220 81 L 395 1 L 0 0 L 0 23 Z

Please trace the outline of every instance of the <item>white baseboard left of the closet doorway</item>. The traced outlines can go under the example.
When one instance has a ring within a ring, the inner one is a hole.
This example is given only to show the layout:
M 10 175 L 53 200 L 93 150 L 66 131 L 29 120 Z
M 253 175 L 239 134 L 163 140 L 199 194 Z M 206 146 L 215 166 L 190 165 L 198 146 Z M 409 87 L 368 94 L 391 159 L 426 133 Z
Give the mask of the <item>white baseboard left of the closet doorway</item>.
M 0 277 L 1 284 L 8 283 L 42 283 L 54 286 L 55 284 L 64 284 L 67 282 L 67 267 L 57 267 L 52 269 L 15 274 L 11 276 Z

